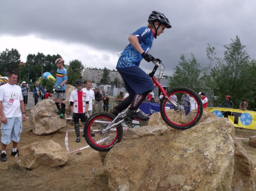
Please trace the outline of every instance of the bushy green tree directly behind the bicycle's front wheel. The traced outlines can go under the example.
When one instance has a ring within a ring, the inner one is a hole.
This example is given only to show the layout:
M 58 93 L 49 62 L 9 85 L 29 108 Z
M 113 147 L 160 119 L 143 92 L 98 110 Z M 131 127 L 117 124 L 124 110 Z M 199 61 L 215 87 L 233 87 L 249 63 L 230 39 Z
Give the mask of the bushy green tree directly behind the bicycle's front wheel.
M 174 69 L 173 75 L 169 77 L 168 84 L 171 88 L 185 86 L 195 91 L 200 88 L 200 66 L 193 54 L 188 61 L 184 55 L 180 57 L 179 65 Z

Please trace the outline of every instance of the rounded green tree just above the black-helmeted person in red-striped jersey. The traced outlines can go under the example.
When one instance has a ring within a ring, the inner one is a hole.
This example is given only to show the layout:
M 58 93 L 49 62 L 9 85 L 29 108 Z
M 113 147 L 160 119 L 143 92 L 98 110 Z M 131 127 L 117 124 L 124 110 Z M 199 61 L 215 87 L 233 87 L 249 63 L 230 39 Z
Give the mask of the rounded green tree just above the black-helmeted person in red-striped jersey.
M 75 81 L 77 79 L 82 79 L 83 76 L 81 72 L 84 71 L 84 65 L 78 59 L 72 60 L 69 62 L 69 65 L 66 67 L 68 73 L 68 84 L 75 86 Z

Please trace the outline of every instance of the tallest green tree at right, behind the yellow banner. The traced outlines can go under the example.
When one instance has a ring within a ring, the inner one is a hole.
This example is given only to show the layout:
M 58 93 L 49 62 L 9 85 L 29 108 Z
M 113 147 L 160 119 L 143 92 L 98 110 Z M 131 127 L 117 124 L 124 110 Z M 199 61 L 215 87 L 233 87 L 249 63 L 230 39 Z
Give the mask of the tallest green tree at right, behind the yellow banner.
M 238 36 L 231 43 L 224 45 L 224 60 L 219 60 L 216 67 L 212 68 L 211 76 L 215 84 L 215 94 L 220 98 L 230 95 L 234 102 L 234 108 L 245 97 L 252 97 L 253 91 L 250 83 L 252 76 L 248 75 L 250 67 L 249 55 L 244 50 Z

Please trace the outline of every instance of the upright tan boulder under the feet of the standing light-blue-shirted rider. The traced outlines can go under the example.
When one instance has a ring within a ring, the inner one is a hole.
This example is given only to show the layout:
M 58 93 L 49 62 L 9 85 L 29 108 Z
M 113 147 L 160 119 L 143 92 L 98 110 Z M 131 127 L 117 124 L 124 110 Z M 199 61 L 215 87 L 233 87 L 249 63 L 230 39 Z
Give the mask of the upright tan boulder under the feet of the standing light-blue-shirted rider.
M 55 108 L 56 105 L 52 99 L 44 99 L 37 103 L 30 111 L 29 130 L 35 135 L 49 135 L 64 128 L 66 120 L 59 118 Z

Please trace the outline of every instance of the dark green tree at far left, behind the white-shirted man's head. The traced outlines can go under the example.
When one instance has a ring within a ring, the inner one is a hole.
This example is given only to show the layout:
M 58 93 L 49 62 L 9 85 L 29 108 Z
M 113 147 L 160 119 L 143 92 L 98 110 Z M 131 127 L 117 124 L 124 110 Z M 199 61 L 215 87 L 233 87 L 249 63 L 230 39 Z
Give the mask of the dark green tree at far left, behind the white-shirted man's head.
M 7 76 L 8 72 L 16 71 L 19 73 L 20 54 L 16 49 L 5 49 L 0 53 L 1 75 Z

